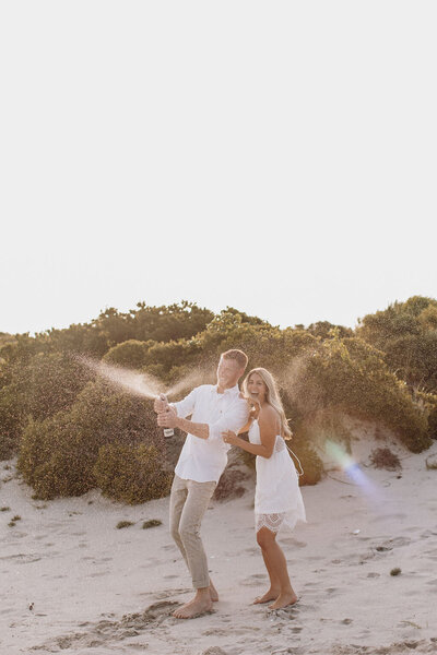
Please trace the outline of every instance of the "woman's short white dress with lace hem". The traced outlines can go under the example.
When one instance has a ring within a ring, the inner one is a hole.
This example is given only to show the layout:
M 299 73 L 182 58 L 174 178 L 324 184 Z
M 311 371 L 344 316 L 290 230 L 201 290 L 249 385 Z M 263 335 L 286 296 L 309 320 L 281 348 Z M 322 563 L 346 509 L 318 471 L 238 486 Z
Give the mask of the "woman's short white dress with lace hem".
M 261 443 L 258 420 L 249 429 L 250 443 Z M 257 488 L 255 491 L 255 523 L 257 532 L 268 527 L 277 533 L 282 527 L 294 528 L 306 522 L 305 507 L 294 462 L 284 439 L 279 434 L 271 457 L 257 455 Z

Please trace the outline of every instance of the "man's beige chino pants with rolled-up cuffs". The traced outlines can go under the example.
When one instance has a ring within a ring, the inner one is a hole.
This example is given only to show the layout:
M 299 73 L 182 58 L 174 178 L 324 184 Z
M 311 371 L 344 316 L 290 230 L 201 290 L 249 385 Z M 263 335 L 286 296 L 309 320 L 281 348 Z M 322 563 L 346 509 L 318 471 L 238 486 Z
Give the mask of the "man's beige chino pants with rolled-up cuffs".
M 200 525 L 216 483 L 184 480 L 177 475 L 170 493 L 170 533 L 191 573 L 196 590 L 210 585 L 206 555 L 200 538 Z

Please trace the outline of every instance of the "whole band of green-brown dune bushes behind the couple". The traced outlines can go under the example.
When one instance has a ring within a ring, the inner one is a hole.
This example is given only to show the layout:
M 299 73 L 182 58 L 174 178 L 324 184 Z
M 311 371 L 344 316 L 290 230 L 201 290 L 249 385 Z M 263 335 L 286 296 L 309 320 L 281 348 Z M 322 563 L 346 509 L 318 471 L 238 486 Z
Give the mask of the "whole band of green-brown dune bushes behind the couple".
M 142 302 L 67 330 L 0 333 L 0 458 L 17 455 L 35 498 L 95 487 L 127 503 L 160 498 L 169 489 L 168 444 L 152 402 L 103 381 L 76 355 L 147 373 L 181 396 L 213 381 L 231 347 L 279 380 L 300 484 L 323 474 L 320 442 L 347 448 L 345 415 L 389 428 L 413 452 L 437 438 L 437 300 L 395 302 L 355 331 L 327 321 L 281 330 L 234 308 L 214 315 L 186 301 Z

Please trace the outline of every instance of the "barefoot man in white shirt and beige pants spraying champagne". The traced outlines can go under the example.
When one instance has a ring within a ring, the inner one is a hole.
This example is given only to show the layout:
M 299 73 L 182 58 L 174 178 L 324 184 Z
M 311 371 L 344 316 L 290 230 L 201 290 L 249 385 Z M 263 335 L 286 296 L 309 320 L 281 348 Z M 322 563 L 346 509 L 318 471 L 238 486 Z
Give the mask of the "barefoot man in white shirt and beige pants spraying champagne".
M 229 446 L 223 442 L 222 432 L 238 432 L 248 419 L 248 404 L 238 389 L 246 366 L 245 353 L 227 350 L 220 358 L 217 384 L 198 386 L 173 405 L 155 401 L 158 426 L 188 433 L 172 486 L 170 532 L 191 573 L 196 595 L 174 612 L 178 619 L 210 611 L 212 603 L 218 600 L 208 573 L 200 525 L 227 463 Z

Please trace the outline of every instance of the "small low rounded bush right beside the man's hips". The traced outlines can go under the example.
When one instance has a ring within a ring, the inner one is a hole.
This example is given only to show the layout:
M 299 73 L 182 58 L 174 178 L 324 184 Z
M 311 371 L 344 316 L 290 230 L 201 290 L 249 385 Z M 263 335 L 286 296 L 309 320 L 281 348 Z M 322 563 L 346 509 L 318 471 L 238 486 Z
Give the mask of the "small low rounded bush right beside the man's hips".
M 114 443 L 99 449 L 94 475 L 105 496 L 135 504 L 169 493 L 173 476 L 162 465 L 155 445 Z

